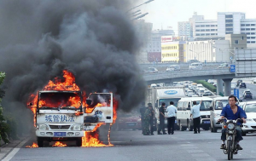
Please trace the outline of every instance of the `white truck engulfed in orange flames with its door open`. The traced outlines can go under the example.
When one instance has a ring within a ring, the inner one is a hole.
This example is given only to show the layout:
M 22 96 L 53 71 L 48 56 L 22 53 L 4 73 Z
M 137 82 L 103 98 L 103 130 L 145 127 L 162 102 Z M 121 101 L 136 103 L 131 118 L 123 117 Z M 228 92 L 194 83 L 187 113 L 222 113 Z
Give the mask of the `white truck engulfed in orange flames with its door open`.
M 90 147 L 93 140 L 102 145 L 93 133 L 102 124 L 113 124 L 113 94 L 92 93 L 86 99 L 71 72 L 64 71 L 63 77 L 65 82 L 49 81 L 38 95 L 31 95 L 38 147 L 49 146 L 50 141 L 76 141 L 78 147 Z

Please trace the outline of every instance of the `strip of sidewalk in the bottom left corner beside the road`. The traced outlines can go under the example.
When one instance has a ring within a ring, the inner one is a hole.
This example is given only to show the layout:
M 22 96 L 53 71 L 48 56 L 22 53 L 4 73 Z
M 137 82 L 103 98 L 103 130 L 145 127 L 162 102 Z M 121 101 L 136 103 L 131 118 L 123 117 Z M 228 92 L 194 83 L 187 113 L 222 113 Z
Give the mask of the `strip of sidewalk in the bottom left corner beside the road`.
M 9 154 L 15 147 L 17 147 L 21 141 L 24 141 L 26 137 L 21 137 L 20 140 L 11 140 L 9 144 L 4 144 L 3 141 L 1 141 L 0 146 L 0 160 L 2 160 L 5 156 Z

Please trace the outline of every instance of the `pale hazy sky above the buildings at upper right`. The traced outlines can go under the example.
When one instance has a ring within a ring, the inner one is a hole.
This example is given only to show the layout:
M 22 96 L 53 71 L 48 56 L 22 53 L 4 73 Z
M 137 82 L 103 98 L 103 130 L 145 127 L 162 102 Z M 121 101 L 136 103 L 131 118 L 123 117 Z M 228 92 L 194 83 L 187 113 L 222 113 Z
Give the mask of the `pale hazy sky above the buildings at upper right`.
M 135 6 L 147 1 L 140 0 Z M 194 12 L 205 20 L 217 20 L 218 12 L 244 12 L 247 19 L 256 19 L 255 6 L 256 0 L 154 0 L 133 11 L 148 13 L 143 20 L 153 23 L 153 30 L 169 26 L 177 33 L 177 22 L 188 21 Z

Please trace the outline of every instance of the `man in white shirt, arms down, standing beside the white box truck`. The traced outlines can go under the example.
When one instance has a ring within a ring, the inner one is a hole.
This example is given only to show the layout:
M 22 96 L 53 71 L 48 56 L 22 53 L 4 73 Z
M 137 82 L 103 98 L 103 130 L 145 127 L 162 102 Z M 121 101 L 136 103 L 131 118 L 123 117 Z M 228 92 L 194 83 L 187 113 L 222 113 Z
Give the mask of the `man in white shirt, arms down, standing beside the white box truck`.
M 170 134 L 173 135 L 174 134 L 175 117 L 176 117 L 176 113 L 177 113 L 177 107 L 174 106 L 173 101 L 170 101 L 170 106 L 167 106 L 166 112 L 168 113 L 168 118 L 167 118 L 168 135 L 170 135 Z

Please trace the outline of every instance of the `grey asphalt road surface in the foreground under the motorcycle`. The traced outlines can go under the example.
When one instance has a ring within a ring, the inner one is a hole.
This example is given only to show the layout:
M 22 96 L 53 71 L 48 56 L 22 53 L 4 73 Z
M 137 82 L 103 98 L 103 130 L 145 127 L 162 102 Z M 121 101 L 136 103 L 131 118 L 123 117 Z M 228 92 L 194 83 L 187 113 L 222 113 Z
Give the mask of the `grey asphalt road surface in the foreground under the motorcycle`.
M 235 160 L 255 160 L 256 133 L 244 136 Z M 104 140 L 104 139 L 103 139 Z M 227 160 L 227 155 L 219 149 L 220 133 L 201 131 L 175 131 L 174 135 L 142 135 L 141 131 L 113 131 L 113 147 L 41 147 L 25 148 L 33 139 L 15 148 L 10 160 L 172 160 L 172 161 L 216 161 Z

